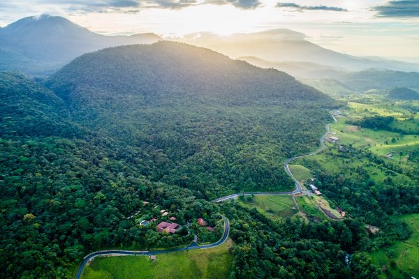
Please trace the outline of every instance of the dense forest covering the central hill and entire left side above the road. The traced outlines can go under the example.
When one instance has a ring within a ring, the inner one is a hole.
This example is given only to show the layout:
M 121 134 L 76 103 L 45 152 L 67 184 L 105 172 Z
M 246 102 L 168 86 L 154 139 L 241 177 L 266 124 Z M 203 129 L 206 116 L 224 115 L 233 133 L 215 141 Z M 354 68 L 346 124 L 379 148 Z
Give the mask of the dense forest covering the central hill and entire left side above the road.
M 1 278 L 69 278 L 92 250 L 191 241 L 127 219 L 139 209 L 203 217 L 215 232 L 200 241 L 218 239 L 209 200 L 293 188 L 284 158 L 316 147 L 335 106 L 277 70 L 177 43 L 86 54 L 48 80 L 1 73 L 0 96 Z

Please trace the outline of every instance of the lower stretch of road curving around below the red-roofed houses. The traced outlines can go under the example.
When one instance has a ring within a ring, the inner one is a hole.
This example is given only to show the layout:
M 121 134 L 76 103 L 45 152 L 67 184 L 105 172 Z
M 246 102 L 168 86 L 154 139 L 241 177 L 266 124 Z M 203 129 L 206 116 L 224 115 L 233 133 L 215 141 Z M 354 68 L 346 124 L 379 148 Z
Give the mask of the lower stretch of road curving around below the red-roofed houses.
M 94 259 L 95 257 L 107 256 L 107 255 L 108 256 L 126 256 L 126 255 L 149 256 L 149 255 L 166 254 L 169 252 L 214 248 L 224 243 L 228 239 L 228 234 L 230 233 L 230 222 L 224 216 L 223 216 L 223 220 L 224 220 L 224 234 L 219 241 L 216 241 L 216 243 L 198 245 L 195 242 L 193 242 L 189 246 L 186 246 L 186 247 L 168 249 L 168 250 L 157 250 L 157 251 L 101 250 L 101 251 L 92 252 L 86 257 L 84 257 L 82 264 L 80 264 L 80 267 L 77 271 L 75 279 L 80 279 L 80 276 L 82 276 L 84 266 L 86 266 L 86 264 L 92 259 Z

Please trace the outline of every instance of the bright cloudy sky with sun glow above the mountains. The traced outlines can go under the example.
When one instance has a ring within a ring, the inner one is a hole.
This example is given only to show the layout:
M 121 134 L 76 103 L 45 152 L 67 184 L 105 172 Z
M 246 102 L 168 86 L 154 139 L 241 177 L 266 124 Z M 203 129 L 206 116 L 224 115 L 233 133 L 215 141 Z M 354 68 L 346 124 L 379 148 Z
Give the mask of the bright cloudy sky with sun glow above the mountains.
M 177 38 L 286 28 L 338 52 L 419 62 L 419 0 L 0 1 L 2 27 L 41 14 L 61 15 L 104 35 Z

